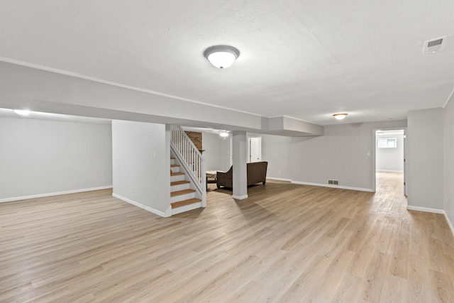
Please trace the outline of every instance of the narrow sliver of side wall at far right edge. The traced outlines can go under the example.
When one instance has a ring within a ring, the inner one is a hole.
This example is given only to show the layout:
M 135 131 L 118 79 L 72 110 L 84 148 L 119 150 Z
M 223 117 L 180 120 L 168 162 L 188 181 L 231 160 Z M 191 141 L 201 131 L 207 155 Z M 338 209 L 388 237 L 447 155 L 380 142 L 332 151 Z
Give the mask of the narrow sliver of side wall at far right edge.
M 444 110 L 444 177 L 445 177 L 445 201 L 444 209 L 451 230 L 454 233 L 454 99 L 448 102 Z

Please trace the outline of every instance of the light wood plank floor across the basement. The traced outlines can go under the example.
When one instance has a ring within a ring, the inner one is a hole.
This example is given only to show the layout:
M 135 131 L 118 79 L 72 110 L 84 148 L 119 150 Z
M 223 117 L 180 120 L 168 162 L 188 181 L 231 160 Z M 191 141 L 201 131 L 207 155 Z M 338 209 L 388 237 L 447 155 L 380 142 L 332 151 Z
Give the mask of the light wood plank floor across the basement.
M 454 302 L 454 237 L 377 193 L 273 182 L 160 218 L 101 190 L 0 204 L 0 302 Z

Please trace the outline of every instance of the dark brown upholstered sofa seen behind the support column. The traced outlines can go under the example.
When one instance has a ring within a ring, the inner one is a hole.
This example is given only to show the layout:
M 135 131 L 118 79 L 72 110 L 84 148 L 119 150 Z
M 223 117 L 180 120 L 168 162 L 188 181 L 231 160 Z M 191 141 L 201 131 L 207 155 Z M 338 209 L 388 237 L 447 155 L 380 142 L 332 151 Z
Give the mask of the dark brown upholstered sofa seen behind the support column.
M 248 185 L 253 185 L 262 182 L 265 185 L 267 178 L 268 162 L 252 162 L 247 164 Z M 233 166 L 230 167 L 228 172 L 217 172 L 216 185 L 218 188 L 221 186 L 232 188 L 233 187 Z

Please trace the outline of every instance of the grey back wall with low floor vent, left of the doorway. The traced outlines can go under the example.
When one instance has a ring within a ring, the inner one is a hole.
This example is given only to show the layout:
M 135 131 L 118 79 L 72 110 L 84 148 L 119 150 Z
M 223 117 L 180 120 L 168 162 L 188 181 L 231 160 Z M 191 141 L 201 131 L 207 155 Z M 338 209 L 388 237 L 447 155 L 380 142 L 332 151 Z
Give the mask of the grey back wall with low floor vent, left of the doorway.
M 404 128 L 406 121 L 383 121 L 325 126 L 325 136 L 294 137 L 290 150 L 293 182 L 374 189 L 375 128 Z

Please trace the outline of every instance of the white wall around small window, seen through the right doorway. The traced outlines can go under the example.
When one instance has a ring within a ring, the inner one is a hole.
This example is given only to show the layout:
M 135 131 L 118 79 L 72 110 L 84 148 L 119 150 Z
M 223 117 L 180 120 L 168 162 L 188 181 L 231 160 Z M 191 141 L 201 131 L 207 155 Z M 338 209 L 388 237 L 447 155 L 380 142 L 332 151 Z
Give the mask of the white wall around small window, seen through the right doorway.
M 387 172 L 404 171 L 404 135 L 382 135 L 377 139 L 396 138 L 396 148 L 378 148 L 376 149 L 376 167 L 375 170 Z M 377 144 L 378 146 L 378 144 Z

